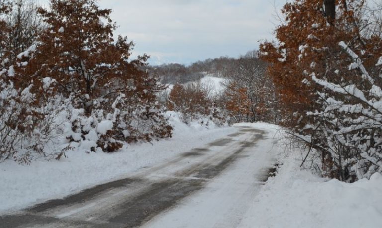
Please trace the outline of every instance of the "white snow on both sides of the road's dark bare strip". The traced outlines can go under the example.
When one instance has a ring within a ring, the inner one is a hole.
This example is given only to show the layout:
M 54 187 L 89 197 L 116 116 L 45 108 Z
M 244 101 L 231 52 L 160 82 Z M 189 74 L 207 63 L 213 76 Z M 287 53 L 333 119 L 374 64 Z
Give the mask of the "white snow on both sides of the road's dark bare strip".
M 0 214 L 123 178 L 145 166 L 165 163 L 192 148 L 235 135 L 237 127 L 252 127 L 263 130 L 265 137 L 244 149 L 239 159 L 203 189 L 154 217 L 144 227 L 381 227 L 380 174 L 346 184 L 300 169 L 301 152 L 286 150 L 280 140 L 281 131 L 275 125 L 209 126 L 211 129 L 207 130 L 196 123 L 191 127 L 183 125 L 176 116 L 172 123 L 174 138 L 154 145 L 134 145 L 115 154 L 68 154 L 62 161 L 33 162 L 31 166 L 2 163 Z M 276 177 L 262 182 L 267 168 L 275 163 L 283 164 Z

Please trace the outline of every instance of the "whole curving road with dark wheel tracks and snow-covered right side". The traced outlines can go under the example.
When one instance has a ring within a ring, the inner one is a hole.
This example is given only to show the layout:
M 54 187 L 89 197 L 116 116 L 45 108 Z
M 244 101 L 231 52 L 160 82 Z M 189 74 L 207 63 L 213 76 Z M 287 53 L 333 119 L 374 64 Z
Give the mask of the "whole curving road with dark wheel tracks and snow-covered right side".
M 275 130 L 237 132 L 124 179 L 0 217 L 1 227 L 241 227 L 275 160 Z

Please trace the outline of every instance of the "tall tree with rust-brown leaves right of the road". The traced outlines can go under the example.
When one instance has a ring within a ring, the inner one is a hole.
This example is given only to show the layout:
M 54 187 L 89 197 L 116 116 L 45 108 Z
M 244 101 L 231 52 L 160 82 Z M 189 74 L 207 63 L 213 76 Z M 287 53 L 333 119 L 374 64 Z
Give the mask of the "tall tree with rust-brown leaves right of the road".
M 335 26 L 326 26 L 327 18 L 321 12 L 322 0 L 287 3 L 282 10 L 287 23 L 276 29 L 279 44 L 265 42 L 261 45 L 262 58 L 270 64 L 267 73 L 273 78 L 280 95 L 285 126 L 303 123 L 306 116 L 301 114 L 314 109 L 317 87 L 310 83 L 309 72 L 316 72 L 318 77 L 341 80 L 342 74 L 335 72 L 343 72 L 341 70 L 347 66 L 339 65 L 338 59 L 347 57 L 337 44 L 340 41 L 350 45 L 365 43 L 359 38 L 359 22 L 349 23 L 355 20 L 358 12 L 355 9 L 363 2 L 341 2 L 344 3 L 338 7 L 342 13 L 338 14 Z

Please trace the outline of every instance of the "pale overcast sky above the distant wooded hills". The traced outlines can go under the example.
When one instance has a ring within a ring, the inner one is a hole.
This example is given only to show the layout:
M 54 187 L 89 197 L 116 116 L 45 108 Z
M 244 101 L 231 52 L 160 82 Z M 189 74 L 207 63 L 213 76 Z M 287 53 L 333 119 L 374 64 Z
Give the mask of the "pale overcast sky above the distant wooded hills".
M 48 0 L 40 0 L 46 3 Z M 286 0 L 100 0 L 113 10 L 121 34 L 146 53 L 150 63 L 190 64 L 220 56 L 237 57 L 272 39 L 275 8 Z

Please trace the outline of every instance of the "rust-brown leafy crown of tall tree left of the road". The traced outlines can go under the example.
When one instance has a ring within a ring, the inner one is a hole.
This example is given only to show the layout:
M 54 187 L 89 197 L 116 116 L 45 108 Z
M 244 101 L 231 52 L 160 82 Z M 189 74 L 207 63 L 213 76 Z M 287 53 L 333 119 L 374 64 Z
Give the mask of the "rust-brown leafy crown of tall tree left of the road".
M 95 0 L 51 0 L 49 10 L 38 11 L 47 28 L 26 72 L 55 79 L 57 91 L 72 96 L 88 115 L 102 92 L 123 89 L 112 88 L 111 81 L 145 75 L 138 68 L 147 56 L 129 60 L 133 43 L 120 36 L 114 40 L 111 10 L 99 9 Z

